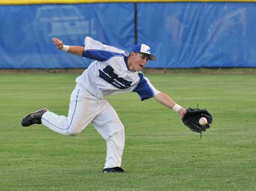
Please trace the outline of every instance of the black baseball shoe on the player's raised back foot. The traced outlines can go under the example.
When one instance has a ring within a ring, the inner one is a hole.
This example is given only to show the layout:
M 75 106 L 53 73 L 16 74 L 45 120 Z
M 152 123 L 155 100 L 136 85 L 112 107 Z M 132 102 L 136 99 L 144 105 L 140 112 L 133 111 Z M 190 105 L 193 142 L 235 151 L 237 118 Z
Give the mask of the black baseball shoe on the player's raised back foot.
M 27 127 L 27 126 L 30 126 L 32 124 L 41 124 L 42 123 L 41 118 L 42 118 L 42 115 L 45 112 L 48 112 L 48 109 L 43 108 L 43 109 L 38 110 L 36 112 L 29 113 L 28 115 L 26 115 L 22 119 L 22 126 Z

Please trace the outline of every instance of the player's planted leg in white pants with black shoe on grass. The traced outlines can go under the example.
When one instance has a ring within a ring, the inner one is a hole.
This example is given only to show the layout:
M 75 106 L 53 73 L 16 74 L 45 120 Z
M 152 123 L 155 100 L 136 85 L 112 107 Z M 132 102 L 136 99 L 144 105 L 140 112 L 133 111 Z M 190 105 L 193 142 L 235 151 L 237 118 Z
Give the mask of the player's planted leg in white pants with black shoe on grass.
M 114 108 L 106 101 L 101 101 L 102 112 L 92 121 L 95 129 L 106 140 L 105 171 L 121 173 L 121 160 L 124 151 L 124 126 Z M 113 169 L 114 168 L 114 169 Z

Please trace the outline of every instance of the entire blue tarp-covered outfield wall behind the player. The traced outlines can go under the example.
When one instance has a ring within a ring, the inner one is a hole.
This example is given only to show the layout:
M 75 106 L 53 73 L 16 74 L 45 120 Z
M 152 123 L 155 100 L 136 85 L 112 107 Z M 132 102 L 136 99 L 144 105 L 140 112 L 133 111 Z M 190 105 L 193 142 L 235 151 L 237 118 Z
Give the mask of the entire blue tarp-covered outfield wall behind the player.
M 157 60 L 147 67 L 256 67 L 254 3 L 3 2 L 0 68 L 88 67 L 91 60 L 58 51 L 51 43 L 56 36 L 83 46 L 87 35 L 127 51 L 136 42 L 149 44 Z

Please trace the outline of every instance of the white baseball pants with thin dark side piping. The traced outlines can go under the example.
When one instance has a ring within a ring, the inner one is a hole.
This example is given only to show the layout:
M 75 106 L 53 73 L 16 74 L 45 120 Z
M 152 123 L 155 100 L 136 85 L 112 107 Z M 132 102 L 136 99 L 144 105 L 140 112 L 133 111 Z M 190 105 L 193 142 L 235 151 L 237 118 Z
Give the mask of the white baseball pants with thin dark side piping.
M 68 116 L 46 112 L 42 123 L 55 132 L 69 136 L 79 134 L 89 123 L 106 140 L 104 168 L 121 166 L 124 150 L 124 126 L 107 100 L 96 99 L 78 85 L 70 96 Z

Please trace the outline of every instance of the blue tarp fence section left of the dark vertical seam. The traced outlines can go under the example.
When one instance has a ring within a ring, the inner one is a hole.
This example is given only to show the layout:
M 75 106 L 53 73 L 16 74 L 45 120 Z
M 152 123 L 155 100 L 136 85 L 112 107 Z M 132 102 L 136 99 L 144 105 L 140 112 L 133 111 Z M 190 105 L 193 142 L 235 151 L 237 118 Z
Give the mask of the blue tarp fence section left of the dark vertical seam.
M 121 17 L 119 15 L 122 15 Z M 83 68 L 92 60 L 59 51 L 83 46 L 85 36 L 129 49 L 134 45 L 134 4 L 0 6 L 0 68 Z

